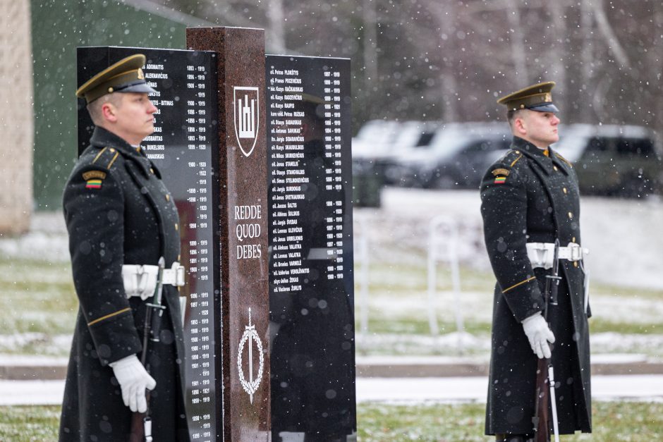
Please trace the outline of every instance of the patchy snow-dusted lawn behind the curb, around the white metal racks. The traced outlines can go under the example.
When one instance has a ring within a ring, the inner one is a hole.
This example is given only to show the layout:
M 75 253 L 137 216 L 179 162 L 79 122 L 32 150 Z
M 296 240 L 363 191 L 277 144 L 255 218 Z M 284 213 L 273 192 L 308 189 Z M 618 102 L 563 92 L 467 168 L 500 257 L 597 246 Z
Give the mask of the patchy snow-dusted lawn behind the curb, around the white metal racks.
M 427 264 L 421 253 L 397 264 L 374 259 L 369 275 L 369 333 L 403 339 L 430 337 L 427 306 Z M 456 305 L 451 272 L 437 268 L 436 314 L 439 331 L 456 331 Z M 357 326 L 361 317 L 361 269 L 355 272 Z M 494 277 L 489 270 L 461 268 L 461 311 L 465 331 L 488 340 L 492 320 Z M 78 300 L 68 262 L 0 257 L 0 352 L 66 356 Z M 661 336 L 663 341 L 662 290 L 642 290 L 592 284 L 592 333 L 614 332 L 630 336 Z M 624 306 L 628 305 L 628 309 Z M 600 352 L 638 352 L 663 355 L 663 345 L 637 342 L 619 348 L 597 348 Z M 446 354 L 436 345 L 404 343 L 399 354 Z M 358 353 L 384 355 L 394 351 L 387 340 L 358 340 Z M 467 354 L 482 354 L 485 348 L 467 348 Z M 451 352 L 450 354 L 454 354 Z

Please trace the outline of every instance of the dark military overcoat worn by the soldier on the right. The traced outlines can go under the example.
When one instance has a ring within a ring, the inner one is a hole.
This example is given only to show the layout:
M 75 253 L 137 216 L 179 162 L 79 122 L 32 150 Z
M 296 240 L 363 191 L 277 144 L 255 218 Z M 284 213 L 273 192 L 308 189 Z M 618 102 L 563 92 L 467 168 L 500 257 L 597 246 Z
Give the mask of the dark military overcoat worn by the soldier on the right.
M 546 154 L 547 153 L 547 154 Z M 580 244 L 578 180 L 571 164 L 514 137 L 481 183 L 485 242 L 497 278 L 492 322 L 486 434 L 533 433 L 537 357 L 523 319 L 544 309 L 545 276 L 525 243 Z M 590 343 L 582 263 L 560 260 L 559 305 L 548 321 L 561 434 L 591 431 Z

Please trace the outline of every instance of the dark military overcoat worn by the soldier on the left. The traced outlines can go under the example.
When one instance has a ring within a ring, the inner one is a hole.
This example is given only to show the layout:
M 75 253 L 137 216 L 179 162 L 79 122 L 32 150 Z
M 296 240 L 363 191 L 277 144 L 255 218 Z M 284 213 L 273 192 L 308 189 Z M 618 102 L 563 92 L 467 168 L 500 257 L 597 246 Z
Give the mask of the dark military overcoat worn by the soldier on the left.
M 62 416 L 61 441 L 127 441 L 131 412 L 110 362 L 142 351 L 145 301 L 126 298 L 123 264 L 166 268 L 178 260 L 173 198 L 147 157 L 103 128 L 81 154 L 63 195 L 73 281 L 78 295 Z M 156 441 L 188 440 L 183 409 L 183 333 L 178 290 L 164 286 L 161 343 L 148 362 Z

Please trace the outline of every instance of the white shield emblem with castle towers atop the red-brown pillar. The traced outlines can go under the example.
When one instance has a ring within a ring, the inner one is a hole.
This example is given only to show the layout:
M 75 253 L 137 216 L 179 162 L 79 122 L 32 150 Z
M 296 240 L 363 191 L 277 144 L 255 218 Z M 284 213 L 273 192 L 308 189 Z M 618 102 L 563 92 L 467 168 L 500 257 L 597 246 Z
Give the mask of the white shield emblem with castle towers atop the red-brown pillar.
M 245 156 L 253 152 L 260 125 L 260 97 L 257 87 L 233 86 L 233 111 L 237 144 Z

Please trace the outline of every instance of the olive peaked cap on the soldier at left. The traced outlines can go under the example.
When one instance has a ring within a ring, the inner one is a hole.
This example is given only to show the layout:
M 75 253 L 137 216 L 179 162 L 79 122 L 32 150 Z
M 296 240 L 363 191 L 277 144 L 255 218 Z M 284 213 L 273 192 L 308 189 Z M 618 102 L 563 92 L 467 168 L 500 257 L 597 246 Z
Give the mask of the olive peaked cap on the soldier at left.
M 87 80 L 76 91 L 76 97 L 85 98 L 89 104 L 113 92 L 157 92 L 147 85 L 145 75 L 142 73 L 143 65 L 145 65 L 143 54 L 134 54 L 121 59 Z

